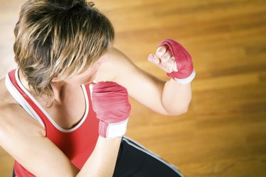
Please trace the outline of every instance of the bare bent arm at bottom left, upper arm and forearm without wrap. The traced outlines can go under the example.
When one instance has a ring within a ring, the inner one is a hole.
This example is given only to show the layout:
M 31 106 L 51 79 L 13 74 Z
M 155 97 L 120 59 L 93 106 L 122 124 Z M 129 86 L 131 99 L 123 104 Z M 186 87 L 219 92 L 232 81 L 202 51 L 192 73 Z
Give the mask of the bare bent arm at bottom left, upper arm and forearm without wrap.
M 79 173 L 45 130 L 16 104 L 0 105 L 0 146 L 35 176 L 112 176 L 121 138 L 99 137 Z

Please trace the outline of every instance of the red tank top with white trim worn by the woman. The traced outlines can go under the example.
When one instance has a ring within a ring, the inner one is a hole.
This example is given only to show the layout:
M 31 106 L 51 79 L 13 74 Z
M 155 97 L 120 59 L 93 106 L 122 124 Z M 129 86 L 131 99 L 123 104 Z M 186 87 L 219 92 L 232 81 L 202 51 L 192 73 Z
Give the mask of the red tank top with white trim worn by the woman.
M 46 132 L 46 137 L 50 139 L 59 149 L 64 152 L 64 154 L 72 161 L 74 166 L 77 166 L 78 169 L 82 169 L 85 162 L 92 154 L 96 141 L 99 137 L 98 125 L 99 120 L 96 118 L 96 113 L 92 109 L 92 100 L 91 93 L 89 90 L 89 84 L 83 85 L 85 100 L 87 101 L 87 110 L 84 114 L 84 118 L 79 122 L 77 126 L 70 130 L 64 130 L 56 125 L 55 122 L 49 115 L 45 113 L 43 108 L 36 103 L 33 96 L 27 93 L 26 89 L 23 88 L 23 85 L 18 79 L 18 69 L 14 69 L 9 72 L 8 76 L 13 84 L 14 88 L 23 96 L 25 101 L 31 108 L 35 111 L 35 114 L 38 115 L 38 120 L 43 124 Z M 16 176 L 34 176 L 30 171 L 23 168 L 21 164 L 15 161 L 14 170 Z

